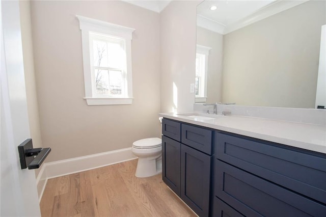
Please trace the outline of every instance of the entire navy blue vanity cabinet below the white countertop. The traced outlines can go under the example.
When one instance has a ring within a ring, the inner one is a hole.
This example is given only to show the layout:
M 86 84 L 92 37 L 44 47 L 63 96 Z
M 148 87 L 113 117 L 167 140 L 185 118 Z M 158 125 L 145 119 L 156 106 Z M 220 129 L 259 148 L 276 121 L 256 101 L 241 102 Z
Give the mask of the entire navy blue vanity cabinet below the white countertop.
M 199 216 L 326 216 L 326 154 L 163 119 L 164 182 Z

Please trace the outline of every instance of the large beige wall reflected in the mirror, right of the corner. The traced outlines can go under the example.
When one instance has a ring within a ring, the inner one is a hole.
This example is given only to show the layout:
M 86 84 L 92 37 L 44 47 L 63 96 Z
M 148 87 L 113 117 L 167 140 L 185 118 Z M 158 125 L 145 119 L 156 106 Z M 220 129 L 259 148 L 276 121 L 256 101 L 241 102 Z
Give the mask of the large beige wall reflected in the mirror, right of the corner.
M 313 108 L 322 24 L 310 1 L 225 35 L 223 101 Z

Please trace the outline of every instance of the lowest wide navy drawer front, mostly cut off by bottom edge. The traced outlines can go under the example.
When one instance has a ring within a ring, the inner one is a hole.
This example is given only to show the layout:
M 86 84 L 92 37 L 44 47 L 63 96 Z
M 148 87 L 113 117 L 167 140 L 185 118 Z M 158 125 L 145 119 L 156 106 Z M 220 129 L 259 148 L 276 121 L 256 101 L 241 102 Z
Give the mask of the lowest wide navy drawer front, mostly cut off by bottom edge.
M 214 217 L 244 217 L 240 212 L 224 203 L 218 197 L 214 197 L 213 214 Z

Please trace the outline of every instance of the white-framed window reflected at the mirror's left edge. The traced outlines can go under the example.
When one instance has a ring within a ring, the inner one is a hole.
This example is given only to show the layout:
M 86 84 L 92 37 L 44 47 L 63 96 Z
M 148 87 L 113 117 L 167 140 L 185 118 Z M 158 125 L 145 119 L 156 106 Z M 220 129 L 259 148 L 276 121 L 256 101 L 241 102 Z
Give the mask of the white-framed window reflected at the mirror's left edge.
M 195 78 L 195 96 L 196 102 L 206 102 L 207 99 L 207 70 L 208 55 L 210 47 L 196 46 L 196 78 Z

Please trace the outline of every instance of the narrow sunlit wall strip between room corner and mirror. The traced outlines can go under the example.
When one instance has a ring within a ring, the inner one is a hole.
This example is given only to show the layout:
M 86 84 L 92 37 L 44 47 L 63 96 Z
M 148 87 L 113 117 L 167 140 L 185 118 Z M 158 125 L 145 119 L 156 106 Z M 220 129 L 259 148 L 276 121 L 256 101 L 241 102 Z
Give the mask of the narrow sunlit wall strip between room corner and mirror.
M 161 112 L 193 110 L 196 61 L 196 6 L 172 1 L 160 13 Z

